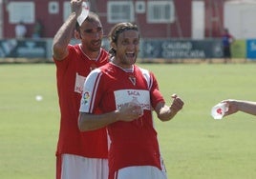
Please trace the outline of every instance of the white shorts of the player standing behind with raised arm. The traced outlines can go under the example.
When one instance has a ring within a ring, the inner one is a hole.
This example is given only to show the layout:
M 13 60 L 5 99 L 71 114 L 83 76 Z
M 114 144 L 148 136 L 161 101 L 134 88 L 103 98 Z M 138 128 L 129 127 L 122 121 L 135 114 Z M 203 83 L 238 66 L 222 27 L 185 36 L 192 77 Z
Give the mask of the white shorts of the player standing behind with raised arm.
M 107 159 L 86 158 L 73 154 L 62 154 L 61 179 L 107 179 Z

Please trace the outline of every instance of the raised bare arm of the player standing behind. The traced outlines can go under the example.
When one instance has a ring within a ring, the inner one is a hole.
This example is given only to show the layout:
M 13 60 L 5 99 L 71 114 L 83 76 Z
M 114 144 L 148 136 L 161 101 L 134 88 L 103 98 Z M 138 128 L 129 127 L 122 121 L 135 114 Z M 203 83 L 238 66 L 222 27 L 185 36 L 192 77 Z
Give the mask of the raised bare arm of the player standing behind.
M 82 0 L 71 0 L 71 14 L 53 38 L 53 58 L 62 60 L 68 55 L 68 45 L 74 34 L 76 18 L 82 11 Z

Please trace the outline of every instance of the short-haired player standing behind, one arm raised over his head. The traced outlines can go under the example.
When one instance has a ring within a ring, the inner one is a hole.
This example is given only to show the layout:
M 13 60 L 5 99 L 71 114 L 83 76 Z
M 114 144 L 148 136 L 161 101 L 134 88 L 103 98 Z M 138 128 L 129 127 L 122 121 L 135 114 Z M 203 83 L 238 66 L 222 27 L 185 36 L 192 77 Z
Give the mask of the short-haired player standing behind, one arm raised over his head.
M 89 12 L 79 26 L 82 0 L 71 0 L 71 14 L 53 38 L 60 108 L 56 149 L 56 179 L 106 179 L 108 142 L 105 128 L 81 132 L 77 127 L 84 81 L 91 70 L 109 61 L 101 48 L 103 30 L 96 13 Z M 71 45 L 74 34 L 80 41 Z

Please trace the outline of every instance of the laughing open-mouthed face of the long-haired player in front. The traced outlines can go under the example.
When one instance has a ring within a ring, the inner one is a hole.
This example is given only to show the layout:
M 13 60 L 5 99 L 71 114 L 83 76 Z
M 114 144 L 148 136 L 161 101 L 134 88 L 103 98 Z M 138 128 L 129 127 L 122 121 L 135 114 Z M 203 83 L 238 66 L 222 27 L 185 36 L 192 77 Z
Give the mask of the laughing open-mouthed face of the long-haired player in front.
M 139 31 L 125 30 L 117 38 L 117 63 L 120 67 L 129 69 L 136 63 L 139 53 Z

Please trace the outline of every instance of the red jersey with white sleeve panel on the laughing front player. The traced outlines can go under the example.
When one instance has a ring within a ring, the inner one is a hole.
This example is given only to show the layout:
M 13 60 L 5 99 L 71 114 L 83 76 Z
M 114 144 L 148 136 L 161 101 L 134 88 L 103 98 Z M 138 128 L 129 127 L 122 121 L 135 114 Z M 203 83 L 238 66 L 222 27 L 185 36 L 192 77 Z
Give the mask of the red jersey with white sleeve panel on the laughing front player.
M 160 167 L 160 149 L 154 129 L 152 108 L 163 101 L 157 80 L 148 70 L 133 66 L 125 71 L 109 63 L 90 73 L 86 79 L 80 111 L 103 113 L 137 101 L 143 115 L 132 122 L 118 121 L 107 127 L 111 140 L 110 176 L 117 169 L 130 166 Z

